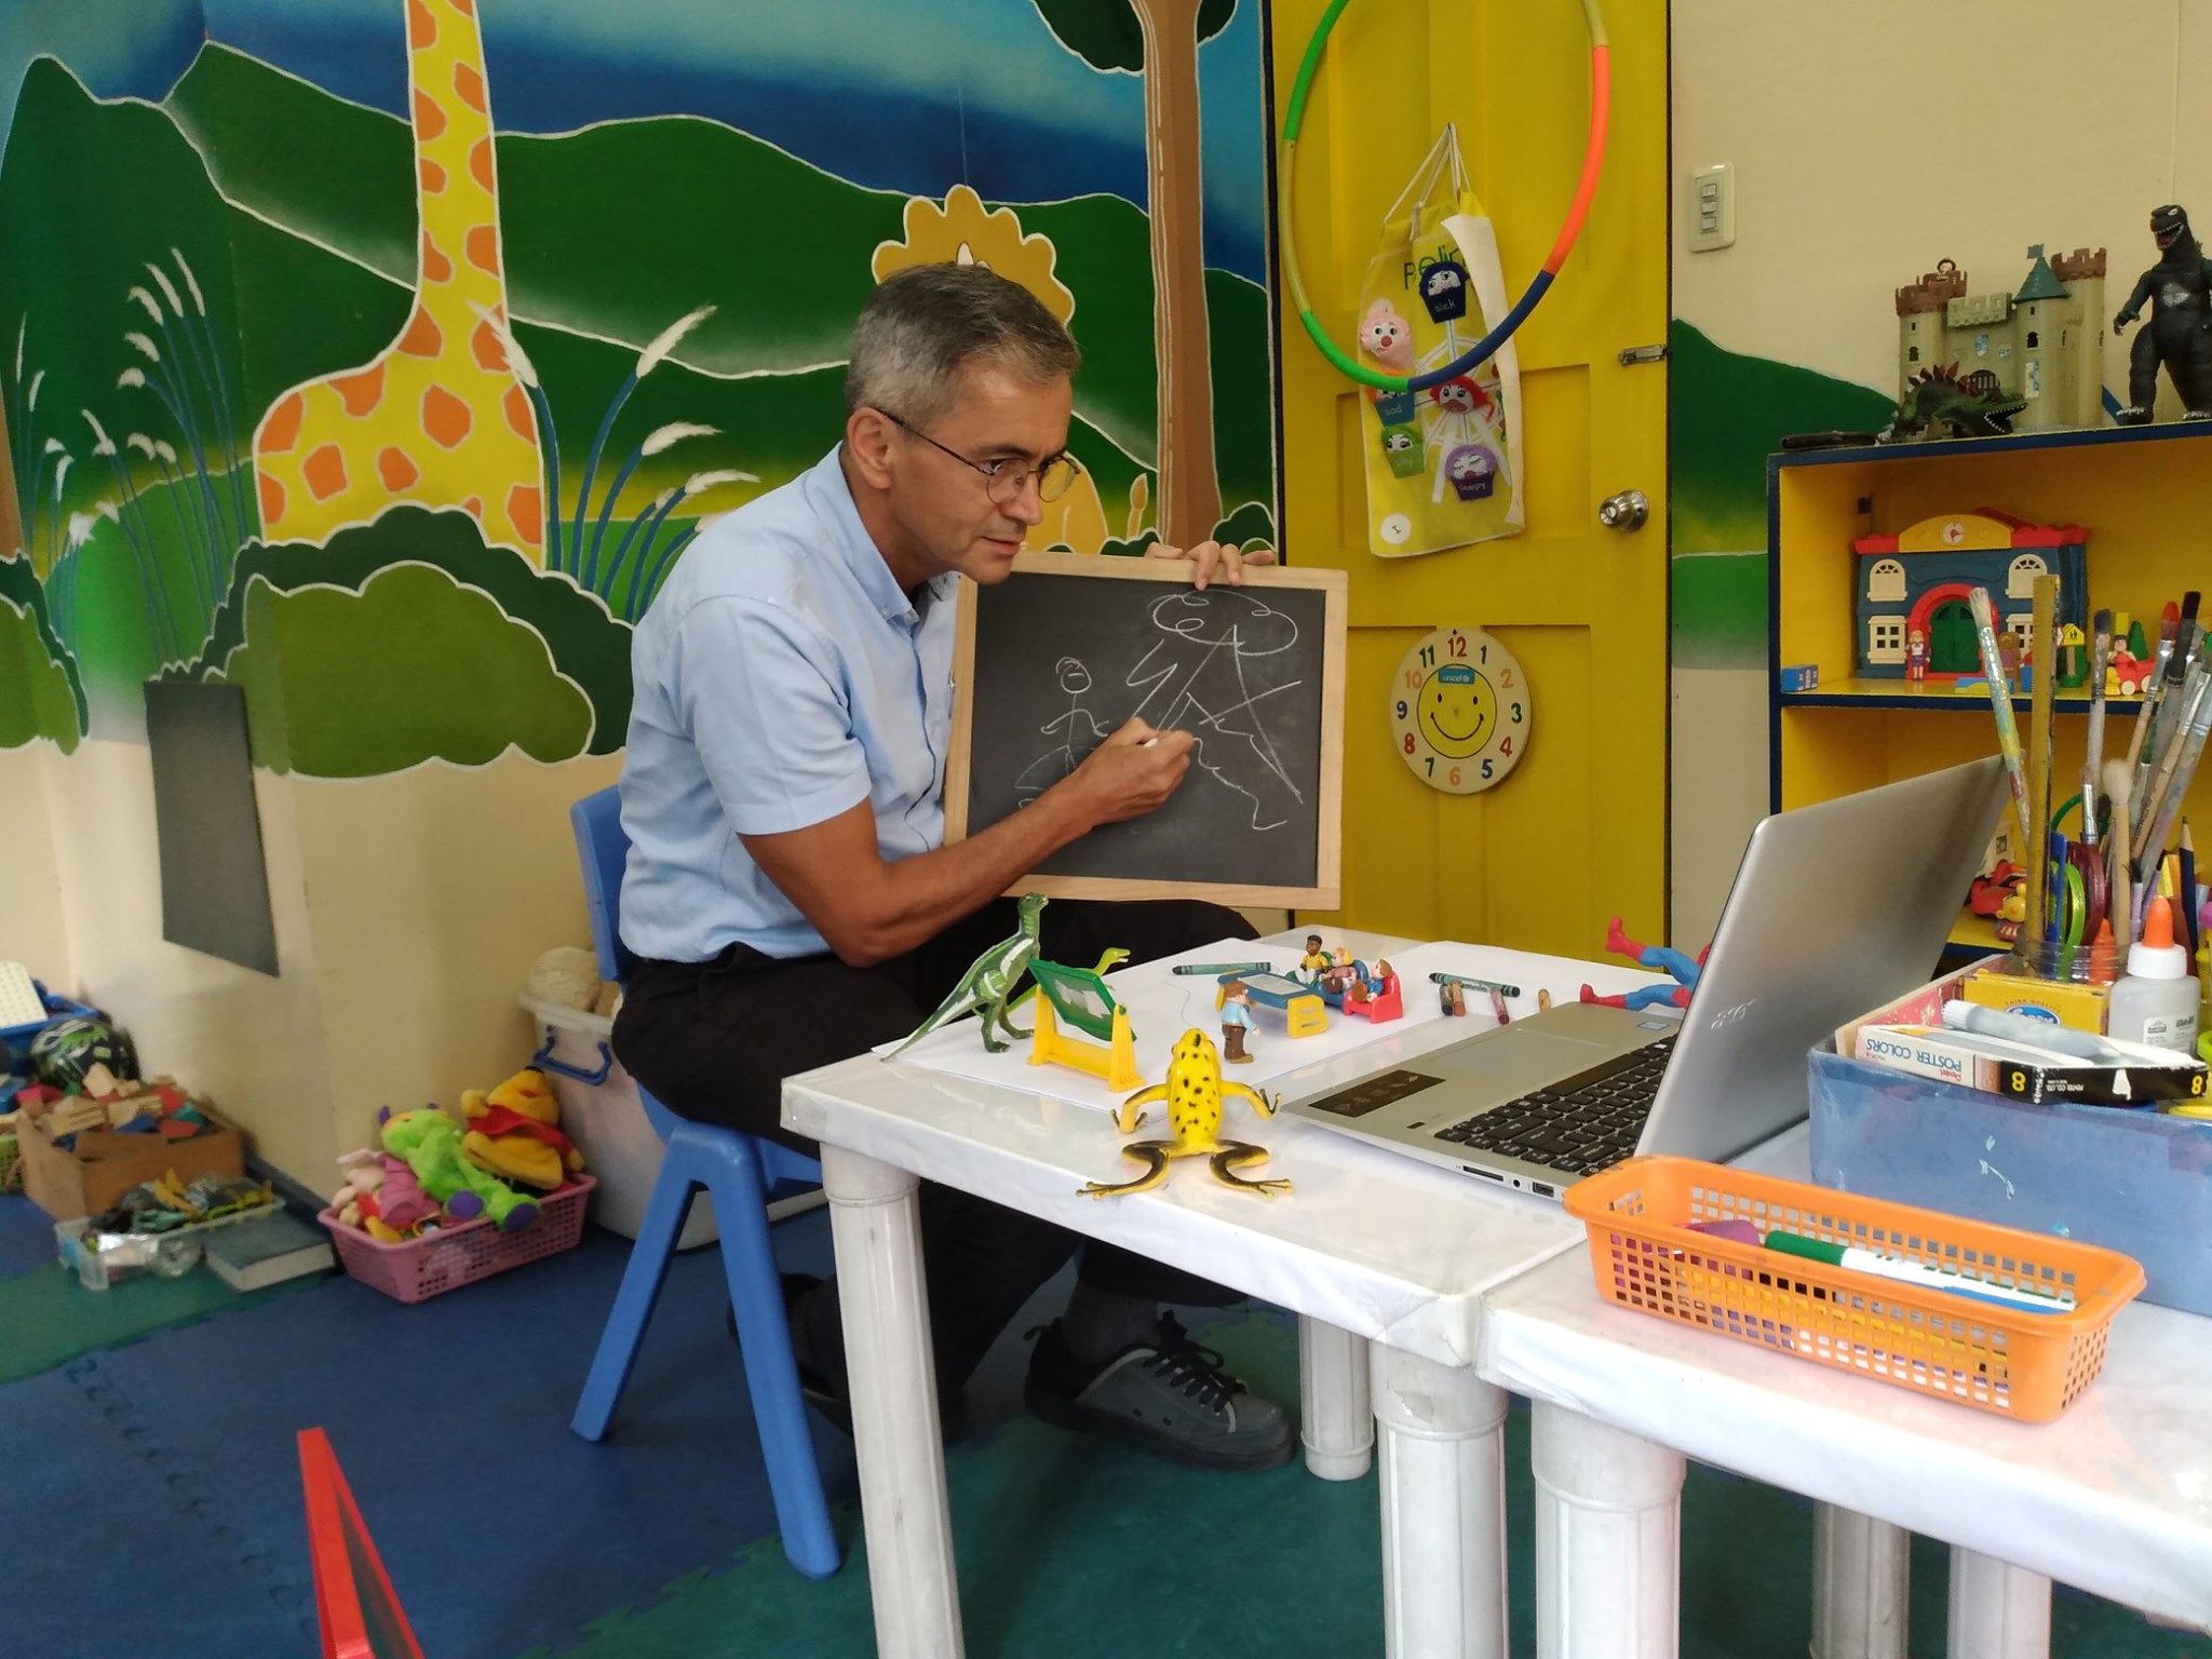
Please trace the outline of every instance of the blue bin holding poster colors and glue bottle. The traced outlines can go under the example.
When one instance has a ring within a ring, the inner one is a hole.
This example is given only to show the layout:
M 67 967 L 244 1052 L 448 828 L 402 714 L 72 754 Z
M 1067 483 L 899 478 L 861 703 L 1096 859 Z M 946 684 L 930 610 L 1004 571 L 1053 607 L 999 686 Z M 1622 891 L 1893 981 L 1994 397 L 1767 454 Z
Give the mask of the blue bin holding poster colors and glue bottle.
M 2121 1250 L 2143 1301 L 2212 1314 L 2212 1121 L 2031 1106 L 1812 1051 L 1812 1179 Z

